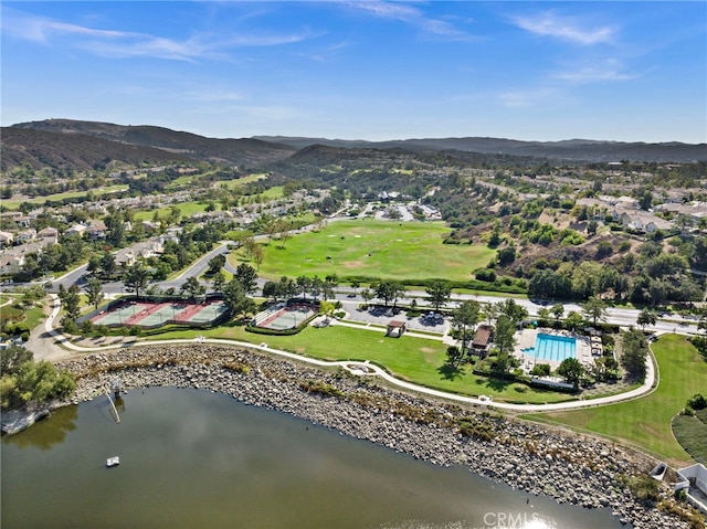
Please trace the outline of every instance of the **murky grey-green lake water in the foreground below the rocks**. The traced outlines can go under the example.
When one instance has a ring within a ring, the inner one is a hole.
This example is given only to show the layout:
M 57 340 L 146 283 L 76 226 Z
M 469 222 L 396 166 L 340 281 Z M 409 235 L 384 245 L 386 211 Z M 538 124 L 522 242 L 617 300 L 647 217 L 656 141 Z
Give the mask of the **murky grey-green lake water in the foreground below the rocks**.
M 116 424 L 98 398 L 2 438 L 3 529 L 621 527 L 217 393 L 133 391 L 118 409 Z

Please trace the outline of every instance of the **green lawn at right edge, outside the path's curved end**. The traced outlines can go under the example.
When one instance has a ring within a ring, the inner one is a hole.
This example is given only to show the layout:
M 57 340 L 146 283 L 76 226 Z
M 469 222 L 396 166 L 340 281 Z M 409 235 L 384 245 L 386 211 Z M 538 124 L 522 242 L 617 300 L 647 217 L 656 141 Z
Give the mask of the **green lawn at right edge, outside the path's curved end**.
M 689 455 L 673 437 L 671 420 L 687 399 L 705 393 L 707 362 L 683 336 L 663 336 L 652 348 L 659 369 L 659 384 L 653 393 L 618 404 L 525 417 L 606 435 L 647 449 L 672 465 L 689 464 Z

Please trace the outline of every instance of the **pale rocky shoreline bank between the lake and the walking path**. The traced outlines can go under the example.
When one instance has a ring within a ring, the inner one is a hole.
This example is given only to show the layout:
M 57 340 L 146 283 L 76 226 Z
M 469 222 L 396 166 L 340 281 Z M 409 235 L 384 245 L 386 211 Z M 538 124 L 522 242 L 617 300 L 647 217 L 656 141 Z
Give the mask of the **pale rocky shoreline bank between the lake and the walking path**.
M 464 465 L 528 494 L 611 509 L 635 528 L 689 527 L 674 515 L 645 508 L 622 484 L 622 476 L 652 468 L 655 462 L 643 454 L 481 409 L 393 391 L 344 370 L 323 371 L 254 350 L 209 343 L 135 347 L 59 367 L 78 377 L 74 403 L 105 393 L 116 375 L 123 391 L 211 390 L 436 465 Z

